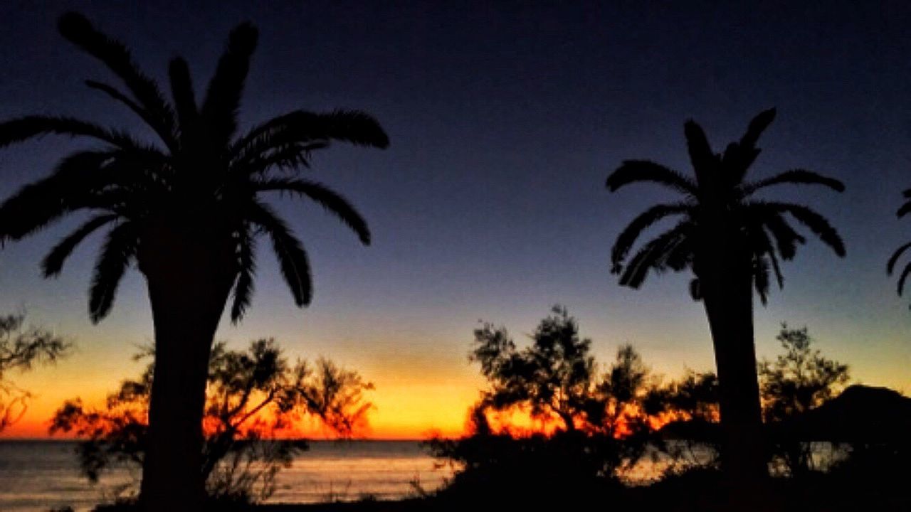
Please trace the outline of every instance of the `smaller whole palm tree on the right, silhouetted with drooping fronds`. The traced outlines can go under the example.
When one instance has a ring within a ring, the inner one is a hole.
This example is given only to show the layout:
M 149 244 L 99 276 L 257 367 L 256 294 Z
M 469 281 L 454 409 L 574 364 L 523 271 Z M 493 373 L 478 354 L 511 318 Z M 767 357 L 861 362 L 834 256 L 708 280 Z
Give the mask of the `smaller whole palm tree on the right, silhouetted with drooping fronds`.
M 682 196 L 679 201 L 645 210 L 620 232 L 611 253 L 611 271 L 619 274 L 621 285 L 631 288 L 639 288 L 649 271 L 692 271 L 690 292 L 705 306 L 721 387 L 722 466 L 733 482 L 755 482 L 767 473 L 753 346 L 752 290 L 764 305 L 770 275 L 783 286 L 779 258 L 791 260 L 797 245 L 805 242 L 788 216 L 844 256 L 837 231 L 814 210 L 753 197 L 780 184 L 823 185 L 840 192 L 844 190 L 840 181 L 804 169 L 744 181 L 760 153 L 756 141 L 774 117 L 774 109 L 760 113 L 746 134 L 723 153 L 713 153 L 702 128 L 687 121 L 684 134 L 695 179 L 648 160 L 625 160 L 607 180 L 610 191 L 649 181 Z M 679 221 L 630 257 L 642 231 L 669 217 Z

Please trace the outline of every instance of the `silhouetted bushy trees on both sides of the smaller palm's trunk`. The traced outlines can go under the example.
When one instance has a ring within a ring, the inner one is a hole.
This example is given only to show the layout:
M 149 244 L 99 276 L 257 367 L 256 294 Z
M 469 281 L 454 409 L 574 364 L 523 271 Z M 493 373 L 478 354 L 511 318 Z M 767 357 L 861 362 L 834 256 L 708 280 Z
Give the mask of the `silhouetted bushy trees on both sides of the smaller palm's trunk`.
M 763 465 L 804 476 L 822 469 L 812 445 L 769 435 L 772 425 L 823 404 L 850 377 L 846 365 L 814 349 L 805 327 L 783 324 L 777 339 L 783 353 L 757 368 L 768 440 L 760 446 Z M 516 497 L 528 486 L 562 483 L 584 500 L 619 486 L 649 455 L 666 461 L 666 476 L 720 466 L 721 391 L 715 374 L 688 371 L 663 382 L 631 345 L 620 346 L 606 368 L 599 367 L 590 346 L 562 307 L 537 325 L 524 347 L 503 327 L 486 323 L 475 331 L 469 357 L 488 385 L 471 410 L 472 432 L 429 444 L 435 456 L 460 468 L 444 493 Z M 523 416 L 534 423 L 510 423 Z

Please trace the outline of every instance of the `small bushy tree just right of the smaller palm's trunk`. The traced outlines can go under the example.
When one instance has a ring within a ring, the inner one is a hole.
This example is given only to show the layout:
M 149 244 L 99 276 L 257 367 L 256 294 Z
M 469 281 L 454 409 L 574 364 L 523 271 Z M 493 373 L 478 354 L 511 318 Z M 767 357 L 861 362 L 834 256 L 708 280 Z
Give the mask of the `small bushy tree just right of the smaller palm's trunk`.
M 847 364 L 828 359 L 810 347 L 813 338 L 807 328 L 782 330 L 775 338 L 784 353 L 775 361 L 759 365 L 760 390 L 765 422 L 783 422 L 828 402 L 850 380 Z M 792 476 L 814 468 L 812 445 L 784 435 L 773 446 L 775 458 Z

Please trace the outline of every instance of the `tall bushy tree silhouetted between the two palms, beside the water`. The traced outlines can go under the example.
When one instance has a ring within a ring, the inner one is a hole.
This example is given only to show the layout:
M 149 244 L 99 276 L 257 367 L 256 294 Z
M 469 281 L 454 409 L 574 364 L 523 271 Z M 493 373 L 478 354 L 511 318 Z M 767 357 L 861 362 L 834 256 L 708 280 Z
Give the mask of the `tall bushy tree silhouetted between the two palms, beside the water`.
M 448 499 L 491 497 L 491 507 L 582 504 L 616 490 L 619 472 L 644 455 L 650 374 L 640 355 L 623 345 L 599 374 L 591 341 L 560 306 L 530 338 L 520 348 L 504 327 L 476 329 L 469 360 L 481 365 L 488 386 L 470 410 L 470 435 L 428 443 L 433 456 L 460 468 L 443 491 Z M 516 435 L 512 425 L 492 425 L 489 416 L 502 412 L 526 413 L 543 428 Z

